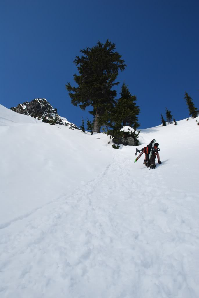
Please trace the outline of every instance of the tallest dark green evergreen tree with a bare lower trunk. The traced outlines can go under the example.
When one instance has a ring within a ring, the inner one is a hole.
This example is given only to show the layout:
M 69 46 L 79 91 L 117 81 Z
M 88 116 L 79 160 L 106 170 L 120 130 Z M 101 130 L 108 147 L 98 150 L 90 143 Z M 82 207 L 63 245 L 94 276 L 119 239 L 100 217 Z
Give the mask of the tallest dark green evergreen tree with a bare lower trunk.
M 117 92 L 112 88 L 119 84 L 115 82 L 119 70 L 126 67 L 115 48 L 107 39 L 105 44 L 98 41 L 96 46 L 80 50 L 81 57 L 76 56 L 73 61 L 79 71 L 79 75 L 73 75 L 77 87 L 65 85 L 73 105 L 79 105 L 84 111 L 88 106 L 93 107 L 90 111 L 95 117 L 93 132 L 100 132 L 100 117 L 114 103 Z

